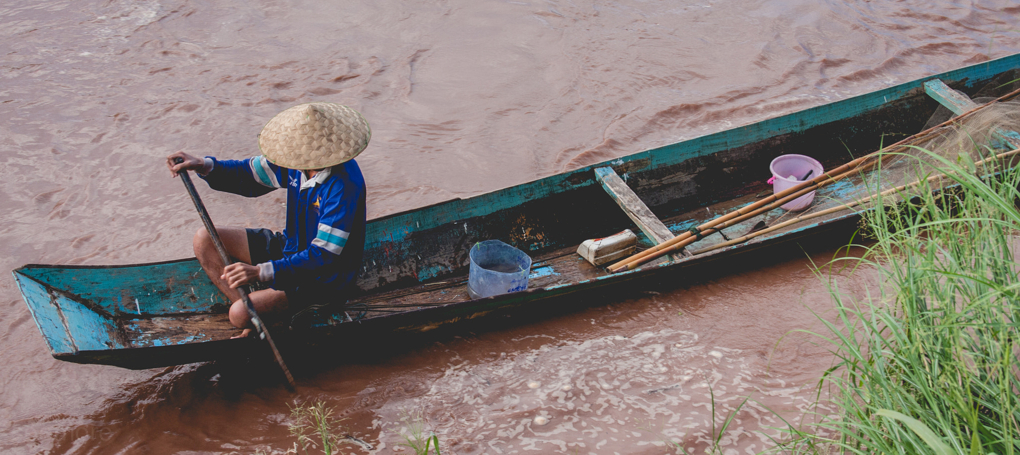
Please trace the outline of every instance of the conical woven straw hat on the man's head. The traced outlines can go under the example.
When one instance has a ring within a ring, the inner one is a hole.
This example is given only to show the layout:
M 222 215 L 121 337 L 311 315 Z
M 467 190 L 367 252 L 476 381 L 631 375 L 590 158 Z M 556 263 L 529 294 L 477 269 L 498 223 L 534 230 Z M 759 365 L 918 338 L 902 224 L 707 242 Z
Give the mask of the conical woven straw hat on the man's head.
M 258 135 L 258 148 L 277 166 L 321 169 L 358 156 L 371 136 L 358 111 L 336 103 L 305 103 L 270 119 Z

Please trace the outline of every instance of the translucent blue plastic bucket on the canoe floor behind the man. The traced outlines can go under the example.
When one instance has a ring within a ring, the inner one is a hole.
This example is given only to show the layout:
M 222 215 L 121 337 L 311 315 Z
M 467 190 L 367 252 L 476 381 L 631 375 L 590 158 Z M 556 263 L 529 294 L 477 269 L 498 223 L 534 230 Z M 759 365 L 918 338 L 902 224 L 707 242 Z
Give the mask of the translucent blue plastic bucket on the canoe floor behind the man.
M 471 268 L 467 275 L 467 293 L 471 298 L 517 292 L 527 289 L 531 257 L 500 240 L 479 241 L 468 255 Z

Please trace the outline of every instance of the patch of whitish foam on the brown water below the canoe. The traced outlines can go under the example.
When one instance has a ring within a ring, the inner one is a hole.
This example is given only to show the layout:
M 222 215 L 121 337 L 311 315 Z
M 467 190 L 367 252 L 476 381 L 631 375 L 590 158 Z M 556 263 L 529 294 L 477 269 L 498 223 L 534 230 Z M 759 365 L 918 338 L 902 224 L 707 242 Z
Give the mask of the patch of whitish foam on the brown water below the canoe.
M 461 442 L 458 454 L 625 453 L 673 442 L 705 447 L 716 439 L 713 419 L 721 429 L 736 412 L 719 446 L 763 450 L 779 436 L 765 428 L 781 423 L 769 408 L 813 408 L 812 389 L 771 378 L 758 354 L 698 339 L 664 329 L 550 340 L 497 363 L 456 358 L 420 398 L 378 409 L 375 426 L 395 426 L 400 408 L 415 406 L 442 438 Z

